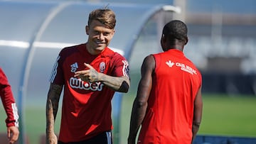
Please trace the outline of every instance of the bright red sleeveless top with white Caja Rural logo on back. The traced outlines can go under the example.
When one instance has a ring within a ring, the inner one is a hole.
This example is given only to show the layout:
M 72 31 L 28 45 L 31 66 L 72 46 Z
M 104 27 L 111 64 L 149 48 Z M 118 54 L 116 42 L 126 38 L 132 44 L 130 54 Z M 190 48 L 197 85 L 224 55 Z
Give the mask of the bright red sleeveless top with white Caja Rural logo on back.
M 156 68 L 138 143 L 191 144 L 201 73 L 180 50 L 154 55 Z

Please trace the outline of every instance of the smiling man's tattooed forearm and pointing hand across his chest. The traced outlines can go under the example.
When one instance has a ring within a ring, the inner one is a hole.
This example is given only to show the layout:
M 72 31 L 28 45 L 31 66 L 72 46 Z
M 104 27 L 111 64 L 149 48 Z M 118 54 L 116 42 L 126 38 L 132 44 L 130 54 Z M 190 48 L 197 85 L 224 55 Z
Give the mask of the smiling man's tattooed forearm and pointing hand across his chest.
M 117 92 L 128 92 L 129 90 L 129 77 L 112 77 L 101 72 L 97 72 L 91 65 L 86 64 L 85 66 L 89 70 L 81 70 L 75 72 L 75 77 L 79 77 L 85 82 L 103 82 L 107 87 Z

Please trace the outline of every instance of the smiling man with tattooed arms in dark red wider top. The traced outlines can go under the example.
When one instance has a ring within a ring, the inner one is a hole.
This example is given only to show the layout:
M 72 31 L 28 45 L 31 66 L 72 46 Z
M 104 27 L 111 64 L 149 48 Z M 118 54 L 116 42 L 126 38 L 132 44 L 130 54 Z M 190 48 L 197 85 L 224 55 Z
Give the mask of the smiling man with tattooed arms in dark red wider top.
M 112 143 L 111 100 L 114 92 L 128 92 L 130 84 L 127 60 L 108 48 L 115 23 L 114 11 L 92 11 L 87 43 L 60 51 L 46 102 L 46 143 Z M 57 138 L 54 123 L 63 87 Z

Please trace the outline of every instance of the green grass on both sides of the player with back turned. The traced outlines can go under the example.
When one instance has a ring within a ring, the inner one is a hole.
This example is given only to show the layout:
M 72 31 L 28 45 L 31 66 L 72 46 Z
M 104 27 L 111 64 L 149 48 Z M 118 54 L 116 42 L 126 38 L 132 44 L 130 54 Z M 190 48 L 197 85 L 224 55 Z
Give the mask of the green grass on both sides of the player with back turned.
M 129 118 L 134 96 L 124 96 L 121 116 L 121 143 L 127 143 Z M 199 135 L 256 138 L 256 96 L 203 94 L 203 118 Z

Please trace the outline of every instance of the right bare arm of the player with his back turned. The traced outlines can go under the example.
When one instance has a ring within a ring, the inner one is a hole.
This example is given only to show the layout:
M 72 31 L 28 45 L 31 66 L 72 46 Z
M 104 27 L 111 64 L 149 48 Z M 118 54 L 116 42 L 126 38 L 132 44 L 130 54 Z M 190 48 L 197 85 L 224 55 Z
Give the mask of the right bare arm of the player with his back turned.
M 198 93 L 196 94 L 196 99 L 194 101 L 194 111 L 193 111 L 193 126 L 192 126 L 192 142 L 196 138 L 196 133 L 199 130 L 199 126 L 202 119 L 203 113 L 203 99 L 201 94 L 201 88 L 198 89 Z

